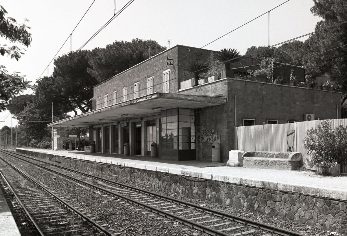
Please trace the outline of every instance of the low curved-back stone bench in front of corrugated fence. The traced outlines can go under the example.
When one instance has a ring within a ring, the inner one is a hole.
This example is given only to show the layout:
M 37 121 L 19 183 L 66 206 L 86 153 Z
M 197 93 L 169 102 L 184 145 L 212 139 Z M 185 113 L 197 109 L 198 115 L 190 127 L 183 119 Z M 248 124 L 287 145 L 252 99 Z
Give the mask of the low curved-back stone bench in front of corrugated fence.
M 299 152 L 245 152 L 243 166 L 247 168 L 296 170 L 301 167 Z

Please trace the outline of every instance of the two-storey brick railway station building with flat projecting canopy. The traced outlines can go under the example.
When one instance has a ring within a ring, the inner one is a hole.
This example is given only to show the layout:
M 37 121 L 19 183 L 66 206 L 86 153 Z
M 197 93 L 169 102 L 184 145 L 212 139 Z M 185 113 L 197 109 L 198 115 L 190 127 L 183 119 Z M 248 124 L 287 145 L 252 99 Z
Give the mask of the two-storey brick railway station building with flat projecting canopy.
M 341 117 L 338 92 L 236 76 L 259 69 L 256 58 L 244 57 L 225 78 L 196 85 L 184 68 L 210 55 L 183 45 L 167 49 L 96 85 L 92 111 L 48 126 L 89 127 L 99 153 L 150 156 L 155 143 L 156 155 L 172 161 L 211 161 L 211 146 L 218 143 L 226 162 L 237 149 L 236 126 Z M 304 69 L 277 65 L 274 77 L 289 78 L 293 70 L 304 81 Z

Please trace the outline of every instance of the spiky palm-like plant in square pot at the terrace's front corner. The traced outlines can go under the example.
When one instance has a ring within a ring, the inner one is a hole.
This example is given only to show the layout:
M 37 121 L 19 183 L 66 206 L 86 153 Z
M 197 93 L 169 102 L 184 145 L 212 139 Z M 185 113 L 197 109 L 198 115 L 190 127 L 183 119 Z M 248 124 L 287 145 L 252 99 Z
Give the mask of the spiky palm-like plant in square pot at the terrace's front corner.
M 242 61 L 242 56 L 235 48 L 231 49 L 221 49 L 215 56 L 215 59 L 219 63 L 225 64 L 225 69 L 221 71 L 221 78 L 234 78 L 234 71 L 230 70 L 231 63 Z

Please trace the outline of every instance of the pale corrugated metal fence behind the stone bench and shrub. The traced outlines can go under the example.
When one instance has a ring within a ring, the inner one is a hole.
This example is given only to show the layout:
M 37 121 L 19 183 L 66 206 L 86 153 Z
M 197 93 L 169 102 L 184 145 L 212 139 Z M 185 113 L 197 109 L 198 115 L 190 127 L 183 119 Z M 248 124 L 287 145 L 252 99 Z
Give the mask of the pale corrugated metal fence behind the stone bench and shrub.
M 303 146 L 303 139 L 306 131 L 315 128 L 320 121 L 236 127 L 238 149 L 245 152 L 301 152 L 306 165 L 307 151 Z M 333 119 L 331 122 L 332 127 L 347 126 L 347 119 Z M 347 163 L 341 165 L 341 173 L 347 173 Z

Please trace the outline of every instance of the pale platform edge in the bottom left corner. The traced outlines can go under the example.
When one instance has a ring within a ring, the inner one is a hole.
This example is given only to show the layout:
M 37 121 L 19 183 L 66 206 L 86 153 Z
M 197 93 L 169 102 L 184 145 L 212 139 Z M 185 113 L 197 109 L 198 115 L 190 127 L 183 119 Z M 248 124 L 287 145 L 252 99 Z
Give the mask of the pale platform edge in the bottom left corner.
M 20 236 L 16 221 L 12 216 L 3 192 L 0 189 L 0 236 Z

